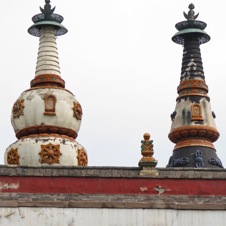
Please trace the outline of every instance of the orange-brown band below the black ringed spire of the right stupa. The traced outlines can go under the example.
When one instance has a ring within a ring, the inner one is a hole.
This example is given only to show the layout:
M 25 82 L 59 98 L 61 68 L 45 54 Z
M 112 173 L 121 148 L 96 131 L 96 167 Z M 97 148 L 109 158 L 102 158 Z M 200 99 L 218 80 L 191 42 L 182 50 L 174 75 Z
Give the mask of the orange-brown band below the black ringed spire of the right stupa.
M 187 95 L 208 97 L 208 86 L 206 85 L 204 80 L 184 80 L 181 81 L 180 85 L 177 87 L 177 93 L 179 94 L 179 97 Z

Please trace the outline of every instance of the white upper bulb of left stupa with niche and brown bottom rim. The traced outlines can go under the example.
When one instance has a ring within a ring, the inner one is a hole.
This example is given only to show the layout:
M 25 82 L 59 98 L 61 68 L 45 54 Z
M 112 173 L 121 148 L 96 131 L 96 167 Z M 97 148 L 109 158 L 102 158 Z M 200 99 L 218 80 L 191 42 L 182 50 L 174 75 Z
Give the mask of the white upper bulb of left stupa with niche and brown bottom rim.
M 11 122 L 17 138 L 39 132 L 77 137 L 82 108 L 66 89 L 30 89 L 21 94 L 12 109 Z

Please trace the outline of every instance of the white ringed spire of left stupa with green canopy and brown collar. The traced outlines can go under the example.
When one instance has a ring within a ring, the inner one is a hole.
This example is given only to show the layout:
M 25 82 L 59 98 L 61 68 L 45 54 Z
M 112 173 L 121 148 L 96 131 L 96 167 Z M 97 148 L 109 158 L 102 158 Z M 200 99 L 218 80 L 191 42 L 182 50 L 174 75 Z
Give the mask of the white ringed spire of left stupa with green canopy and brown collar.
M 64 35 L 67 29 L 61 24 L 64 18 L 54 13 L 56 7 L 51 7 L 50 0 L 45 3 L 43 8 L 40 7 L 41 13 L 32 17 L 34 24 L 28 29 L 29 34 L 39 37 L 35 79 L 31 81 L 31 87 L 64 87 L 64 80 L 60 77 L 56 36 Z

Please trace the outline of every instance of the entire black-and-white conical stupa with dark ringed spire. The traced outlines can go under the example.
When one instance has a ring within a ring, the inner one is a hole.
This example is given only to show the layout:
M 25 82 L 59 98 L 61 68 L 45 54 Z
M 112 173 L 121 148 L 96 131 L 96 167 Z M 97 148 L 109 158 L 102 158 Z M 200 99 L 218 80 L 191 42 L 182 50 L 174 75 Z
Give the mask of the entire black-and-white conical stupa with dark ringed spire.
M 189 5 L 186 21 L 176 24 L 172 40 L 184 46 L 180 84 L 175 111 L 171 114 L 169 139 L 175 148 L 170 167 L 222 167 L 213 142 L 219 137 L 215 114 L 211 110 L 199 46 L 210 40 L 206 23 L 196 20 L 194 5 Z

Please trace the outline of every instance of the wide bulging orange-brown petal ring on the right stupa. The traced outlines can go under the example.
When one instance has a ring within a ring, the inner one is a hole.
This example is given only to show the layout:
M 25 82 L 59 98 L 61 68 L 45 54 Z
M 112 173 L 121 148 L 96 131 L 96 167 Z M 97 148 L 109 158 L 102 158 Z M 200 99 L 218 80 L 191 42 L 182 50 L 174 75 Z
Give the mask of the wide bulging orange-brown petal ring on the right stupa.
M 168 137 L 173 143 L 178 143 L 183 139 L 206 139 L 211 142 L 215 142 L 219 138 L 219 132 L 210 126 L 203 125 L 190 125 L 181 126 L 179 128 L 173 129 Z

